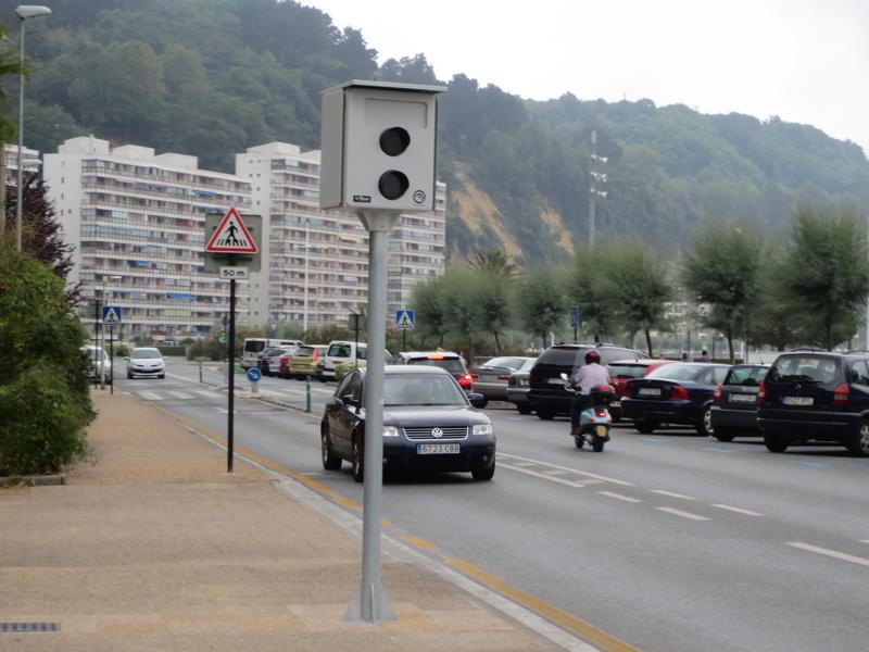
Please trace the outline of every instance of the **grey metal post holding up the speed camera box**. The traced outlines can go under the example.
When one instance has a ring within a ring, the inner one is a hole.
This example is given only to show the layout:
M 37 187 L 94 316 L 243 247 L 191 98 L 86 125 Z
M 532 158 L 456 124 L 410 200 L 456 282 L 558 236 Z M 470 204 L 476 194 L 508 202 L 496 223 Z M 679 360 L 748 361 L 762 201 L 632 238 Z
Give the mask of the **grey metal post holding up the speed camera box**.
M 365 440 L 362 586 L 345 620 L 394 619 L 380 580 L 380 511 L 383 482 L 383 366 L 387 344 L 387 269 L 393 213 L 363 213 L 368 229 L 368 365 L 365 372 Z

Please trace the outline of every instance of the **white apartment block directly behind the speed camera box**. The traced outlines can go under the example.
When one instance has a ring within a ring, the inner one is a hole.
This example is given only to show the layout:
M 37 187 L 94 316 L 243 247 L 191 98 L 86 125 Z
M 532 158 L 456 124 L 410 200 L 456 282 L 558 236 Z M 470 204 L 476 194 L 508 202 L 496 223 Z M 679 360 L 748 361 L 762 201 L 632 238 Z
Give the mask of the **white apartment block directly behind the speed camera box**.
M 319 151 L 287 142 L 236 155 L 251 184 L 254 213 L 268 242 L 262 273 L 251 279 L 251 321 L 303 326 L 347 322 L 367 302 L 368 237 L 353 214 L 319 210 Z M 445 193 L 434 213 L 402 215 L 390 236 L 390 310 L 406 305 L 413 286 L 443 272 Z

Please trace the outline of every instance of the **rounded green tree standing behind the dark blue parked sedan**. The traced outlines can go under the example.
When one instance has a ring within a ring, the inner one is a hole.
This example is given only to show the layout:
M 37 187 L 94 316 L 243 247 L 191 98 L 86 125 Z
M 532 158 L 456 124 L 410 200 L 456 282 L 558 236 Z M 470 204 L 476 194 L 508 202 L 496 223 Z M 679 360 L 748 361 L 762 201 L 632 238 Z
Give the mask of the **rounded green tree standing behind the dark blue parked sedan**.
M 758 313 L 764 250 L 746 226 L 706 224 L 682 261 L 684 286 L 698 303 L 709 304 L 705 323 L 725 334 L 731 364 L 733 340 L 747 336 Z

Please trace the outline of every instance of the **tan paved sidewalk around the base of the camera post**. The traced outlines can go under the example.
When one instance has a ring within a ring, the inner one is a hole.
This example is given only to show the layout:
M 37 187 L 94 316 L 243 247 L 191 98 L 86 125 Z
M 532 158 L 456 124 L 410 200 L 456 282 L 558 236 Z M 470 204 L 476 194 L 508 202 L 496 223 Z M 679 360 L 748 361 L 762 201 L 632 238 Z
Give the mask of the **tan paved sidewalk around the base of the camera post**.
M 95 394 L 67 485 L 0 489 L 0 650 L 531 651 L 553 645 L 433 573 L 385 560 L 398 619 L 348 624 L 360 546 L 130 397 Z

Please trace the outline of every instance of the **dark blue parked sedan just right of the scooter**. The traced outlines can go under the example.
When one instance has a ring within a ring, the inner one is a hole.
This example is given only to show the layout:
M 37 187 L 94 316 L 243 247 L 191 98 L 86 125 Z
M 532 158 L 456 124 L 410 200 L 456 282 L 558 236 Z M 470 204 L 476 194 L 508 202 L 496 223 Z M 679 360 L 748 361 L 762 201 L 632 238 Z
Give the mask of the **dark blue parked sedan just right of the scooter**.
M 660 366 L 645 378 L 628 380 L 621 414 L 633 419 L 633 427 L 643 434 L 667 423 L 694 426 L 698 434 L 711 436 L 713 396 L 729 368 L 706 362 Z

